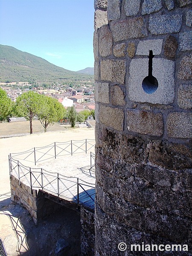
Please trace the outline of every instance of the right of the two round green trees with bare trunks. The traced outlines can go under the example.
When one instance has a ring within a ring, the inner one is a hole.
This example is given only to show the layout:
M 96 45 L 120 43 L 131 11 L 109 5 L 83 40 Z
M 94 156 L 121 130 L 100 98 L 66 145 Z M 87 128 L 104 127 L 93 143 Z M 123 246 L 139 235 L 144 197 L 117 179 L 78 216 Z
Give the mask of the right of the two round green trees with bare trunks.
M 44 95 L 41 95 L 41 98 L 42 106 L 38 109 L 37 116 L 44 127 L 44 132 L 47 132 L 47 126 L 58 122 L 67 111 L 57 99 Z

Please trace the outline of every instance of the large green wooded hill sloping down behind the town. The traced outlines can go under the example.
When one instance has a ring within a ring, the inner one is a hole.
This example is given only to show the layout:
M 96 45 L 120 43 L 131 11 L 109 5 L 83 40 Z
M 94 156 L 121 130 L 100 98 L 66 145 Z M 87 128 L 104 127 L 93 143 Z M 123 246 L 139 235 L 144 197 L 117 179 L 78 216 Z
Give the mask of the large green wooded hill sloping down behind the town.
M 0 44 L 0 82 L 88 81 L 93 76 L 66 70 L 43 58 Z

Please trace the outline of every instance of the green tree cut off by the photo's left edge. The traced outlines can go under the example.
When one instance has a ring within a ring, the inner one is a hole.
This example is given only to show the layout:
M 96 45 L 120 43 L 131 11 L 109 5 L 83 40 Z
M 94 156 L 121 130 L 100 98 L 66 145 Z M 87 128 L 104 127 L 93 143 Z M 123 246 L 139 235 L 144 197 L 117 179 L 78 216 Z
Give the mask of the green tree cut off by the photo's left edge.
M 13 102 L 5 90 L 0 88 L 0 121 L 5 120 L 12 111 Z

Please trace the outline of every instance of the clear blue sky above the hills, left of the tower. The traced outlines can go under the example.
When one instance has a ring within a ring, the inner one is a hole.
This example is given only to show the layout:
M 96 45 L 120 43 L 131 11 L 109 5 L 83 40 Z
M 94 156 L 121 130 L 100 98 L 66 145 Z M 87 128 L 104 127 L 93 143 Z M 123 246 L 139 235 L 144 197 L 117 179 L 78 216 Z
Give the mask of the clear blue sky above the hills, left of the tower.
M 67 70 L 93 67 L 94 0 L 0 0 L 0 44 Z

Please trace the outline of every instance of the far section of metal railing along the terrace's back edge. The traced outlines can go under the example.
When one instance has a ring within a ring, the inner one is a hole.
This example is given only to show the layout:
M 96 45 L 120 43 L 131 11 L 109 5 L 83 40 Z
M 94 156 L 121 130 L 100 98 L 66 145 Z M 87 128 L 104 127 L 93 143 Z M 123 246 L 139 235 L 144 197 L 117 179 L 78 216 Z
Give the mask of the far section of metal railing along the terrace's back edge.
M 17 160 L 26 160 L 32 163 L 39 163 L 51 158 L 61 157 L 68 154 L 90 152 L 95 147 L 95 140 L 70 140 L 67 142 L 54 142 L 44 147 L 31 148 L 20 153 L 12 153 L 11 157 Z

